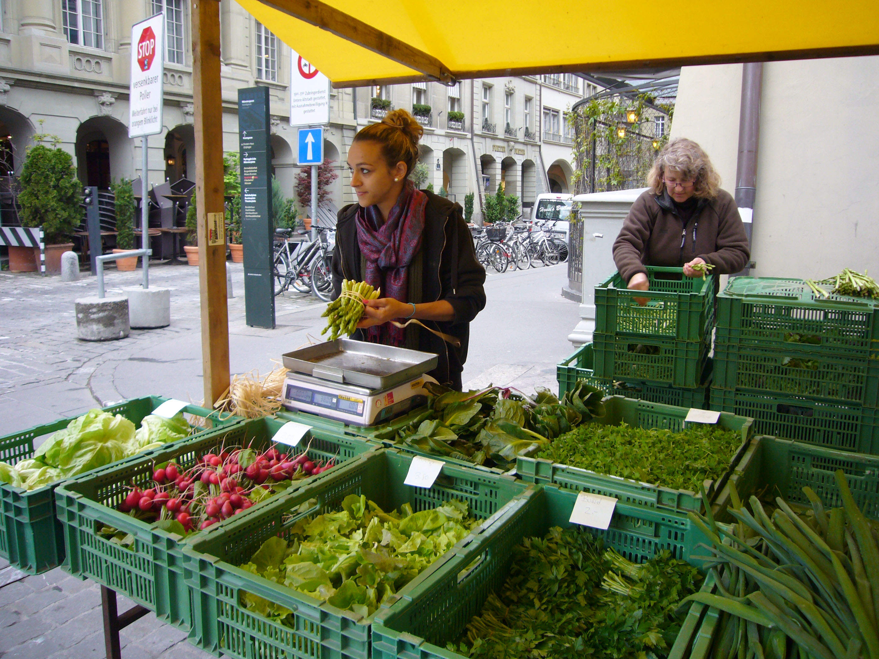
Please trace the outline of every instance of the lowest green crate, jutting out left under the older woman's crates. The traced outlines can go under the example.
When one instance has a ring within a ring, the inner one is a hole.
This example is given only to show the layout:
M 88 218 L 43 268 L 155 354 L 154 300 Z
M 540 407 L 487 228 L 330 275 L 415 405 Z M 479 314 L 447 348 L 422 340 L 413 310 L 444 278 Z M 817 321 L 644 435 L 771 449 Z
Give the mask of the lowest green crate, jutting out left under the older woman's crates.
M 559 362 L 556 366 L 559 397 L 561 398 L 574 388 L 578 380 L 585 380 L 586 384 L 598 387 L 610 396 L 621 395 L 626 398 L 661 402 L 664 405 L 675 405 L 681 408 L 708 409 L 708 386 L 711 382 L 712 371 L 710 358 L 705 360 L 705 366 L 702 368 L 701 387 L 692 389 L 637 380 L 622 382 L 612 378 L 596 378 L 592 369 L 593 364 L 592 344 L 581 345 L 569 358 Z

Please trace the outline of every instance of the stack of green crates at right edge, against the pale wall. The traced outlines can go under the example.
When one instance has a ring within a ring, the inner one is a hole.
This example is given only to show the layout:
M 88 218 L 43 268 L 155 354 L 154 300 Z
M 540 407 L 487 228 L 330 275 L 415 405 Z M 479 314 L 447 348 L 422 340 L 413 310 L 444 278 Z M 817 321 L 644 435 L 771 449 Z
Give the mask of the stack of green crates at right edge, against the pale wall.
M 752 416 L 761 434 L 879 453 L 879 302 L 730 279 L 711 387 L 711 409 Z

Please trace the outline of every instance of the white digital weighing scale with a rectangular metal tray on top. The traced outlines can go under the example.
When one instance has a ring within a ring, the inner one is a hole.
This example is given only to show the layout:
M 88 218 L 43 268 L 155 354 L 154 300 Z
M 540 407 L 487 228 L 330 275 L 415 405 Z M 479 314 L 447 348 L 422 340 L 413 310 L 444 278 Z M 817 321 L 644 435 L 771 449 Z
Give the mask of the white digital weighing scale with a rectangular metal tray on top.
M 287 352 L 285 408 L 369 426 L 427 402 L 425 375 L 437 366 L 429 352 L 339 338 Z

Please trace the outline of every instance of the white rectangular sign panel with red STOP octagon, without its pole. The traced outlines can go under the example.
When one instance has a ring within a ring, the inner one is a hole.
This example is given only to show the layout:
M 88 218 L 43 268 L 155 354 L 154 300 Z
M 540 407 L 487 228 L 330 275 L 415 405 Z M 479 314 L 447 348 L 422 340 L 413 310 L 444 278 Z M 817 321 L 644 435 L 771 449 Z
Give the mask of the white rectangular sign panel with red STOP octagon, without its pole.
M 163 14 L 132 25 L 131 51 L 128 137 L 159 134 L 164 89 Z

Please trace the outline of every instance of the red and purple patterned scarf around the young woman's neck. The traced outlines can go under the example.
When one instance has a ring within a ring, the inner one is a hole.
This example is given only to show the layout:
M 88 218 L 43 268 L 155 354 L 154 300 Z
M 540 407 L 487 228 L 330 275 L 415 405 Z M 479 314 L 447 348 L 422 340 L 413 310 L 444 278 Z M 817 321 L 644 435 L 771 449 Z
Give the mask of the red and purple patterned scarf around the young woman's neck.
M 383 298 L 409 299 L 409 264 L 421 248 L 426 206 L 427 195 L 406 181 L 384 224 L 378 206 L 357 209 L 357 243 L 367 261 L 363 279 L 374 288 L 381 287 Z M 406 330 L 385 322 L 367 329 L 366 334 L 371 343 L 399 346 L 405 342 Z

